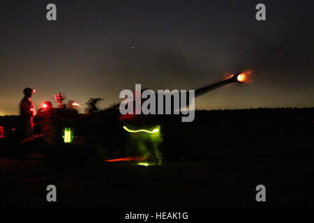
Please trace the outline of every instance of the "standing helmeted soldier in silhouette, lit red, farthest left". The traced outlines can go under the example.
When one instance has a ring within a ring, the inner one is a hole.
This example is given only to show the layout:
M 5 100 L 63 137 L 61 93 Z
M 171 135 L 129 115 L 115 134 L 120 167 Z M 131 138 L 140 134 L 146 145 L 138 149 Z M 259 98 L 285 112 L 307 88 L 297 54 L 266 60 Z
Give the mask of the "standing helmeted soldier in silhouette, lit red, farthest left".
M 24 89 L 24 98 L 20 102 L 20 115 L 23 126 L 23 137 L 31 137 L 33 135 L 33 116 L 35 107 L 33 102 L 29 100 L 33 95 L 33 89 Z

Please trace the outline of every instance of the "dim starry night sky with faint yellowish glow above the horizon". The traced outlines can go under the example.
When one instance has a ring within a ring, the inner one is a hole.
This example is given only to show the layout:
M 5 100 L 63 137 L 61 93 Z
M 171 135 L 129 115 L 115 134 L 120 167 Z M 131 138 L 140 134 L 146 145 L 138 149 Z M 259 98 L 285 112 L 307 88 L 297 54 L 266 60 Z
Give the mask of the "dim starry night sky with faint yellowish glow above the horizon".
M 46 20 L 47 3 L 57 21 Z M 257 3 L 267 20 L 255 20 Z M 0 1 L 0 115 L 64 93 L 100 108 L 135 89 L 196 89 L 226 73 L 253 82 L 196 98 L 196 109 L 314 106 L 313 1 Z M 80 109 L 84 112 L 84 109 Z

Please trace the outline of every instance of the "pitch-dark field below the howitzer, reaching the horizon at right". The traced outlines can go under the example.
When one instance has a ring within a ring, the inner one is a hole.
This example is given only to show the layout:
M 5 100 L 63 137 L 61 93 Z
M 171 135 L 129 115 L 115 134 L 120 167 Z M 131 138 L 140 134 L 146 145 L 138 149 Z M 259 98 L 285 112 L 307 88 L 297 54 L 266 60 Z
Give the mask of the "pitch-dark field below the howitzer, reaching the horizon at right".
M 188 124 L 169 118 L 162 125 L 161 166 L 103 162 L 84 152 L 95 144 L 79 146 L 78 153 L 75 146 L 1 141 L 0 206 L 313 208 L 313 114 L 255 109 L 197 111 Z M 46 201 L 50 184 L 57 187 L 57 202 Z M 260 184 L 266 202 L 255 200 Z

